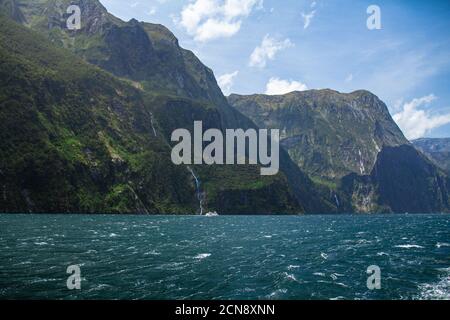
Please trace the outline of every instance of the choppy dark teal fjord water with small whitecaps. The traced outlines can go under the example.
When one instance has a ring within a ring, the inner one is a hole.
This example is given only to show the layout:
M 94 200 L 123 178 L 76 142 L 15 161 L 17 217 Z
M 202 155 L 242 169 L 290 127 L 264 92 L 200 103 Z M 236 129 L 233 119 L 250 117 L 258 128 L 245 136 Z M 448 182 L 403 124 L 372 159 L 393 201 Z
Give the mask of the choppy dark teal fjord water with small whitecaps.
M 450 299 L 448 215 L 0 215 L 0 231 L 0 299 Z

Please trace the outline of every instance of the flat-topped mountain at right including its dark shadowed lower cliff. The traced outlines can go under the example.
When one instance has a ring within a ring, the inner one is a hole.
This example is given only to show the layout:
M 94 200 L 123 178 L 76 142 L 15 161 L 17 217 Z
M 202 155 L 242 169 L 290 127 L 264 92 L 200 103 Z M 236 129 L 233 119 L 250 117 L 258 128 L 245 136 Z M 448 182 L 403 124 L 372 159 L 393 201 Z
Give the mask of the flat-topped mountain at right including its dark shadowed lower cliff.
M 367 91 L 333 90 L 228 101 L 258 126 L 282 131 L 291 158 L 342 212 L 447 212 L 447 176 L 403 136 Z

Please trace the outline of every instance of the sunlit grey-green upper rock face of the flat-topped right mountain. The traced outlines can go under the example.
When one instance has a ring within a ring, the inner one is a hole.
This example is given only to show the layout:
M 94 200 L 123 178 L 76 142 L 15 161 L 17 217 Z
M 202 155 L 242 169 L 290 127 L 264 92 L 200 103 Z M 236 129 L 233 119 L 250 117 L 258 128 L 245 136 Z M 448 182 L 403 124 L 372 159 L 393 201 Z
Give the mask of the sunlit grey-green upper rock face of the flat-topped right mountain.
M 259 126 L 280 129 L 293 160 L 317 179 L 369 174 L 383 147 L 408 143 L 385 104 L 366 91 L 231 95 L 229 102 Z

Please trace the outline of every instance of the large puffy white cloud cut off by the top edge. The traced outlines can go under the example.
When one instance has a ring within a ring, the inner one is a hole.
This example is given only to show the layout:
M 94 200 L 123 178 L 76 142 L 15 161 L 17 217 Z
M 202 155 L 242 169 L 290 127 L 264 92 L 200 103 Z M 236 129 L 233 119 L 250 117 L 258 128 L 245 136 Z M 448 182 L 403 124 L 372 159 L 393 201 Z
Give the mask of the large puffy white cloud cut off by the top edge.
M 240 30 L 242 20 L 262 4 L 263 0 L 191 0 L 177 23 L 195 41 L 231 37 Z

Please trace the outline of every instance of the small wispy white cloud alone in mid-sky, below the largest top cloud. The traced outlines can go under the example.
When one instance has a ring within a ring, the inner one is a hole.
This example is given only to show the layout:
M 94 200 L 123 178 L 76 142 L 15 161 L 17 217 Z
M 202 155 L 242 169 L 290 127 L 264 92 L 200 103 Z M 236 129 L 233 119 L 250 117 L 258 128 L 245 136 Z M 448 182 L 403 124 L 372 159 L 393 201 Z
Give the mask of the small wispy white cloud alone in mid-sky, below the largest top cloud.
M 260 46 L 253 50 L 250 56 L 250 67 L 264 68 L 267 60 L 273 60 L 278 51 L 290 48 L 293 43 L 289 39 L 277 40 L 266 35 Z

